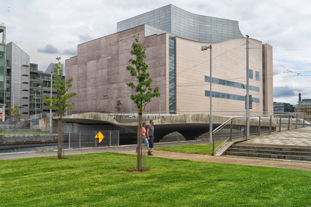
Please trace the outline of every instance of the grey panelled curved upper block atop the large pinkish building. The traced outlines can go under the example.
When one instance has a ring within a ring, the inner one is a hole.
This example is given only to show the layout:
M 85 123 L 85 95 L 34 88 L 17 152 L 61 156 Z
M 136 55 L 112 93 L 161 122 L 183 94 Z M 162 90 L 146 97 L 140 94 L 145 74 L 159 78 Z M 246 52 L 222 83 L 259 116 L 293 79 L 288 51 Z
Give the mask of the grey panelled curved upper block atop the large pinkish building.
M 244 37 L 238 21 L 193 14 L 172 4 L 118 22 L 117 32 L 144 24 L 199 42 L 213 43 Z

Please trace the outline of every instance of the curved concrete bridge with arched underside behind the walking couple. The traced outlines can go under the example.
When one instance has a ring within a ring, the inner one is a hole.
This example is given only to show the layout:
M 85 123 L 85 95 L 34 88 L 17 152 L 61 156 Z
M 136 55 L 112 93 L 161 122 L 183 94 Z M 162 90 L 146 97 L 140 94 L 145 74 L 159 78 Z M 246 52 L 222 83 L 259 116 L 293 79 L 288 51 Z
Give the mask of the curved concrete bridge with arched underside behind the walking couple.
M 130 123 L 120 123 L 114 119 L 112 115 L 87 112 L 82 114 L 73 114 L 70 116 L 64 116 L 63 119 L 67 123 L 79 123 L 79 124 L 113 124 L 118 127 L 128 129 L 133 132 L 137 132 L 137 121 Z M 55 119 L 55 118 L 54 118 Z M 149 125 L 149 117 L 146 124 Z M 225 121 L 228 117 L 213 116 L 213 129 L 216 129 Z M 123 119 L 124 120 L 124 119 Z M 131 120 L 131 119 L 129 119 Z M 208 114 L 183 114 L 175 115 L 171 117 L 165 117 L 161 119 L 154 119 L 154 136 L 155 142 L 159 142 L 162 137 L 172 132 L 179 132 L 186 140 L 194 140 L 196 137 L 209 132 L 209 115 Z

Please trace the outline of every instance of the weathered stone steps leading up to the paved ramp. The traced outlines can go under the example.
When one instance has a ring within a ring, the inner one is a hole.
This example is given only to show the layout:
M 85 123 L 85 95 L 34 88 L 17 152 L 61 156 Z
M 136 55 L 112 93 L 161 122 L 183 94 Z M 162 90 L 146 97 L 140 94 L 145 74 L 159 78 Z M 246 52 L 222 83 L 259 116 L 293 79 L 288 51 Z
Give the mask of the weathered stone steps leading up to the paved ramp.
M 311 161 L 311 148 L 283 146 L 249 146 L 234 144 L 225 151 L 226 156 L 256 157 L 263 159 Z

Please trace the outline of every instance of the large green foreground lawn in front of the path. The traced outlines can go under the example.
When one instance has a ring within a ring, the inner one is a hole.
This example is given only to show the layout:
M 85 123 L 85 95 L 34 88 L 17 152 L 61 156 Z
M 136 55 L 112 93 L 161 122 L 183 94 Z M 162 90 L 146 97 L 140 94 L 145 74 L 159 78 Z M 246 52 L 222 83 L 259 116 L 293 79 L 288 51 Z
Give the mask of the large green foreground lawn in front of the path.
M 0 206 L 311 206 L 311 172 L 95 153 L 0 160 Z

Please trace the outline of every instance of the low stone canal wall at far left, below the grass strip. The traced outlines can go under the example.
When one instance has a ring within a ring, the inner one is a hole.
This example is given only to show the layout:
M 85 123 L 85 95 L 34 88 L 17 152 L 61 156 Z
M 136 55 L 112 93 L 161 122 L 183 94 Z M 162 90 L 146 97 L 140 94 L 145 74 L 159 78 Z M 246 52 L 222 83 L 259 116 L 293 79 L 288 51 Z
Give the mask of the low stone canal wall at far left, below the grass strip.
M 68 134 L 63 134 L 63 142 L 68 142 Z M 58 134 L 16 134 L 0 135 L 0 145 L 22 145 L 57 143 Z

